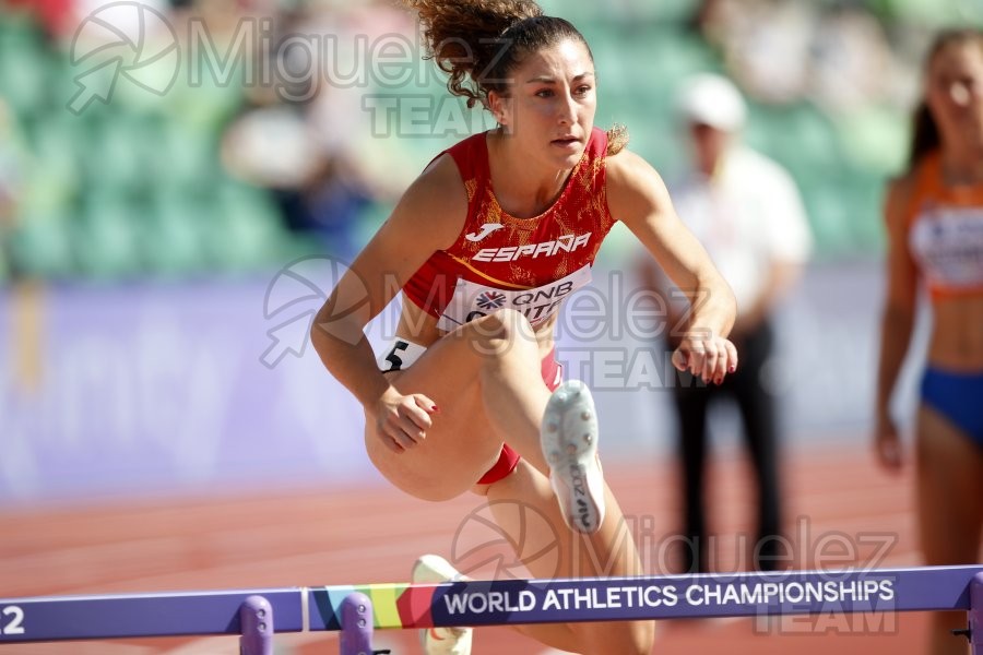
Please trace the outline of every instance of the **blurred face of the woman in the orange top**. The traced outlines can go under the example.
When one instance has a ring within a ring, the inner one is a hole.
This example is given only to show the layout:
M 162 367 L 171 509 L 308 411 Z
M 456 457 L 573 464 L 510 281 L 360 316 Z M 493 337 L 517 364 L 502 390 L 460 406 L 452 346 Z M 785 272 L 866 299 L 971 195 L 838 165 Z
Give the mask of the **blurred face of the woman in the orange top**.
M 983 142 L 983 43 L 939 50 L 928 66 L 925 95 L 944 144 Z

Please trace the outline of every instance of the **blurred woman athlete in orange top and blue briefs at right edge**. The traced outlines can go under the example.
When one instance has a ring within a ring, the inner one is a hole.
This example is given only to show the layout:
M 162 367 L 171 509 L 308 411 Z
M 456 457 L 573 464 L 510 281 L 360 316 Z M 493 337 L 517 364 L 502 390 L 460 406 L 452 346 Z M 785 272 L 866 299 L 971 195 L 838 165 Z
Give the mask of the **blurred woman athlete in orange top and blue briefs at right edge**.
M 972 564 L 983 537 L 983 32 L 944 32 L 931 48 L 909 167 L 888 187 L 885 217 L 877 456 L 902 464 L 890 400 L 924 284 L 933 320 L 915 426 L 919 536 L 927 564 Z M 950 633 L 966 628 L 963 612 L 935 612 L 933 626 L 931 653 L 967 652 Z

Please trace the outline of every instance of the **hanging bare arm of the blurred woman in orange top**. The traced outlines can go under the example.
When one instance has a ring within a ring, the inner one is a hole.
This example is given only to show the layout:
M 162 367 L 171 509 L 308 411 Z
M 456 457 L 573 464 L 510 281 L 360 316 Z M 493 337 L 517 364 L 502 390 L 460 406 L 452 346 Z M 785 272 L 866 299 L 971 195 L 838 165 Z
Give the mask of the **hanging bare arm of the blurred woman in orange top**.
M 917 291 L 917 269 L 908 249 L 908 204 L 911 179 L 890 183 L 885 202 L 887 224 L 887 290 L 880 323 L 880 356 L 877 367 L 874 449 L 888 468 L 902 463 L 898 428 L 890 415 L 890 401 L 911 342 Z

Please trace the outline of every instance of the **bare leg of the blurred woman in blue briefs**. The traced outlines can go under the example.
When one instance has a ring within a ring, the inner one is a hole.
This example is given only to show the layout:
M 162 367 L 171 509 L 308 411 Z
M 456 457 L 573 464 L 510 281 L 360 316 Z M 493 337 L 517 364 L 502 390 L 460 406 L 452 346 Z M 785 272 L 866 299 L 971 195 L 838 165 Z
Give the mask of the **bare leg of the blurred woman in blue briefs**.
M 972 564 L 983 536 L 983 453 L 936 410 L 917 419 L 919 533 L 925 563 Z M 933 655 L 966 655 L 966 640 L 951 630 L 966 628 L 966 612 L 934 612 Z

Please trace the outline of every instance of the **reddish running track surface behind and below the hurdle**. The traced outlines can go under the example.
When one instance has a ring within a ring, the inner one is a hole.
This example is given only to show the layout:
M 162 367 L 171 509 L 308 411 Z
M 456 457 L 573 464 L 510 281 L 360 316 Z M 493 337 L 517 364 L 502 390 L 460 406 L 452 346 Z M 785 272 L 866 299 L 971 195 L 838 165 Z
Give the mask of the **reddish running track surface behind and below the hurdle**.
M 911 472 L 887 475 L 865 449 L 843 443 L 840 438 L 834 448 L 800 449 L 786 457 L 786 532 L 795 568 L 851 561 L 917 565 Z M 744 565 L 737 540 L 726 535 L 748 529 L 754 499 L 745 466 L 720 461 L 711 476 L 723 571 Z M 607 461 L 605 473 L 636 521 L 647 569 L 659 572 L 676 515 L 671 463 Z M 405 581 L 418 553 L 451 553 L 462 516 L 478 507 L 471 496 L 430 504 L 372 486 L 4 510 L 0 597 Z M 817 551 L 820 543 L 826 550 Z M 653 652 L 913 654 L 921 652 L 925 627 L 922 614 L 879 623 L 869 617 L 786 617 L 770 628 L 747 619 L 666 622 Z M 396 655 L 419 652 L 408 632 L 382 633 L 377 641 L 377 648 L 391 647 Z M 332 635 L 281 635 L 276 643 L 281 654 L 336 653 Z M 545 648 L 495 628 L 478 632 L 474 652 L 540 654 Z M 15 653 L 218 655 L 237 653 L 237 645 L 234 638 L 216 638 L 0 646 L 0 655 Z

